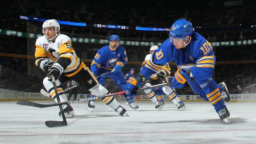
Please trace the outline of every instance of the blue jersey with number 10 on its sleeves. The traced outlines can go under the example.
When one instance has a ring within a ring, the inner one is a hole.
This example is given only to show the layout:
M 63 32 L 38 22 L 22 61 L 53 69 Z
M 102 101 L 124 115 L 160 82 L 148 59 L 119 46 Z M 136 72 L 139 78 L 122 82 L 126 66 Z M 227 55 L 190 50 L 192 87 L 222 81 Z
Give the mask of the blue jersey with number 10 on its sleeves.
M 208 79 L 213 74 L 216 57 L 210 43 L 199 33 L 193 32 L 185 48 L 176 49 L 169 39 L 165 40 L 140 73 L 148 79 L 153 73 L 160 72 L 166 63 L 173 61 L 179 69 L 190 69 L 195 78 Z M 202 69 L 208 74 L 200 75 Z

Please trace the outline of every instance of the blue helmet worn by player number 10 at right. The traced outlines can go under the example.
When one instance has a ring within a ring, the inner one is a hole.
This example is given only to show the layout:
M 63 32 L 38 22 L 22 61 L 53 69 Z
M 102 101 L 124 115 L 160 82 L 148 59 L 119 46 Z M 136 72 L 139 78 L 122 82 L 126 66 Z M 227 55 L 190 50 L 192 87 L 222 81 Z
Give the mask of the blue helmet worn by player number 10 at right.
M 171 42 L 173 39 L 184 39 L 186 36 L 191 36 L 194 32 L 191 22 L 185 19 L 178 19 L 170 28 L 169 38 Z

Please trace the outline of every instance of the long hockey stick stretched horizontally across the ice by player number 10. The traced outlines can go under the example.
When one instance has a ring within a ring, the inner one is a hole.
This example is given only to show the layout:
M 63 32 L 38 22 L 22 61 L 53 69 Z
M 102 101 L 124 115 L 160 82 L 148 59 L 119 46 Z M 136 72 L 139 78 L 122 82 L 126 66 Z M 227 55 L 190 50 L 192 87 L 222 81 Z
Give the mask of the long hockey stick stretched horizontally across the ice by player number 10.
M 150 86 L 150 87 L 139 88 L 138 90 L 151 89 L 151 88 L 157 88 L 157 87 L 168 86 L 168 85 L 169 85 L 169 83 L 162 83 L 162 84 L 153 85 L 153 86 Z M 26 101 L 26 100 L 19 101 L 19 102 L 17 102 L 17 104 L 34 106 L 34 107 L 38 107 L 38 108 L 45 108 L 45 107 L 51 107 L 51 106 L 56 106 L 56 105 L 62 105 L 62 104 L 80 103 L 80 102 L 96 100 L 96 99 L 101 99 L 101 98 L 115 96 L 115 95 L 123 95 L 124 93 L 125 93 L 124 91 L 121 91 L 121 92 L 118 92 L 118 93 L 112 93 L 112 94 L 103 95 L 103 96 L 95 96 L 95 97 L 90 97 L 90 98 L 82 98 L 82 99 L 75 100 L 75 101 L 61 102 L 61 103 L 54 103 L 54 104 L 38 104 L 38 103 Z

